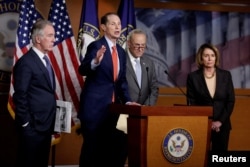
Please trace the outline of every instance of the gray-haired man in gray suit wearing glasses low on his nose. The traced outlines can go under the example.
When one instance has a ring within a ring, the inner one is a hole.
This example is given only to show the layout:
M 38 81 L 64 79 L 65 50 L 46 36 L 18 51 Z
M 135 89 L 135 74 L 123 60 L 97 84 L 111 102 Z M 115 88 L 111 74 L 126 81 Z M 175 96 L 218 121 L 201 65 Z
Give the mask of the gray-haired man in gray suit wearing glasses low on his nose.
M 143 56 L 146 48 L 146 34 L 139 29 L 130 32 L 127 41 L 126 78 L 132 101 L 141 105 L 155 105 L 158 98 L 158 82 L 155 66 L 151 59 Z

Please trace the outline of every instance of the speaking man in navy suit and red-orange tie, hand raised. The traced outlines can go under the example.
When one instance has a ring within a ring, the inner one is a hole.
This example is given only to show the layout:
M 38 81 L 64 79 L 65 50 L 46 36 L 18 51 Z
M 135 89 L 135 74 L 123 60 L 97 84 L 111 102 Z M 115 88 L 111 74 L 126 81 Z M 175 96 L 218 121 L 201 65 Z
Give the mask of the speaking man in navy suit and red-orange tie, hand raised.
M 83 134 L 80 167 L 124 167 L 127 136 L 116 129 L 119 115 L 110 113 L 108 107 L 112 103 L 136 103 L 128 93 L 126 53 L 116 43 L 121 34 L 119 16 L 105 14 L 101 28 L 104 36 L 88 46 L 78 69 L 86 76 L 78 112 Z

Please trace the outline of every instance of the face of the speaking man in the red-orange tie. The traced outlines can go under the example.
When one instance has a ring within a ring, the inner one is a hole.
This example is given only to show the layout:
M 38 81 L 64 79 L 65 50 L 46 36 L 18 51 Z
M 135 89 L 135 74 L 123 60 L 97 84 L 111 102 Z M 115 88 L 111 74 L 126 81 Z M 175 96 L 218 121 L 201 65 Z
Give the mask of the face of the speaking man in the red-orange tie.
M 121 20 L 116 15 L 108 16 L 108 22 L 102 24 L 105 35 L 111 40 L 117 40 L 121 35 Z

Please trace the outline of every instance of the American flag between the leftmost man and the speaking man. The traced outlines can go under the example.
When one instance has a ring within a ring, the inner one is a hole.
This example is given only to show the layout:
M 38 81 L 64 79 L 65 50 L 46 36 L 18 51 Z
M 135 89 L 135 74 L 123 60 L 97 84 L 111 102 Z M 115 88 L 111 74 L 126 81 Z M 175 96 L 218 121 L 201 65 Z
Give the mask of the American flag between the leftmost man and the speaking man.
M 80 124 L 77 111 L 84 81 L 78 74 L 79 56 L 65 0 L 52 1 L 49 20 L 56 33 L 55 46 L 48 55 L 55 71 L 57 97 L 72 102 L 72 127 L 76 127 Z

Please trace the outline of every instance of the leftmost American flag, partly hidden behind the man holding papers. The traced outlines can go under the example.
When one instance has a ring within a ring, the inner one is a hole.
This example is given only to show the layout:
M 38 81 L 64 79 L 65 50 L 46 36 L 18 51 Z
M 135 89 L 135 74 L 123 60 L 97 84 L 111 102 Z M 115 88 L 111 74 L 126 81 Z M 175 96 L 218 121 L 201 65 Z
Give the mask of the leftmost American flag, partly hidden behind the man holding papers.
M 33 24 L 41 19 L 42 16 L 38 13 L 35 8 L 34 0 L 23 0 L 20 8 L 20 16 L 19 16 L 19 25 L 17 29 L 16 35 L 16 43 L 15 43 L 15 54 L 13 65 L 17 62 L 17 60 L 25 54 L 29 48 L 31 47 L 30 40 L 30 32 Z M 14 112 L 14 104 L 12 101 L 12 95 L 14 93 L 13 88 L 13 76 L 11 76 L 11 84 L 10 84 L 10 92 L 8 99 L 8 110 L 11 116 L 15 117 Z

